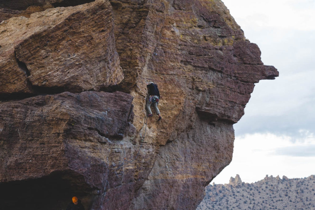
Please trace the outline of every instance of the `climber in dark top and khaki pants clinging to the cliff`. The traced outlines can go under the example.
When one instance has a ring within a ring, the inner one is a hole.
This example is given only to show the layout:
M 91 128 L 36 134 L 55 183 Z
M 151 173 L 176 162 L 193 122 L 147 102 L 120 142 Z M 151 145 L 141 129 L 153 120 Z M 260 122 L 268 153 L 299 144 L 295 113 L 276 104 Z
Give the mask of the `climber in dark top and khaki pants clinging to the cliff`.
M 148 89 L 148 93 L 146 95 L 146 112 L 148 117 L 153 116 L 151 111 L 151 105 L 153 105 L 153 108 L 158 115 L 158 120 L 160 121 L 162 119 L 160 110 L 157 108 L 158 100 L 160 99 L 160 92 L 157 88 L 157 85 L 153 82 L 150 82 L 146 85 L 146 88 Z

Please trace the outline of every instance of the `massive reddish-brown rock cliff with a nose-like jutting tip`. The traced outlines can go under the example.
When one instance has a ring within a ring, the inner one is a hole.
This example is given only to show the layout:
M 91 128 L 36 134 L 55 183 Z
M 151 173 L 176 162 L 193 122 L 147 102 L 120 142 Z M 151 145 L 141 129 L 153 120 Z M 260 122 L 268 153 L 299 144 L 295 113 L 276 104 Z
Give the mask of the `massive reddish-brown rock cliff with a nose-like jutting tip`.
M 194 209 L 232 160 L 254 83 L 278 76 L 220 0 L 0 6 L 4 209 L 73 195 L 87 209 Z

